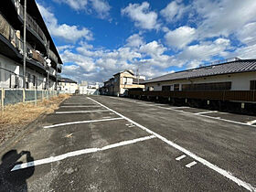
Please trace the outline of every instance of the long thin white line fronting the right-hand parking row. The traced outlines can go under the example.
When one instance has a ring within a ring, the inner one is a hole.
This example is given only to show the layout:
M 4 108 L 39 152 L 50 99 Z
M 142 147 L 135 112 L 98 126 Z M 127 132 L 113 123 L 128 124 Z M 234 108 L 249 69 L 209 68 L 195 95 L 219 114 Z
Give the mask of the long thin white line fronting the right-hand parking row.
M 116 99 L 116 98 L 112 98 L 112 99 Z M 129 100 L 122 100 L 122 101 L 129 101 Z M 129 102 L 134 102 L 134 101 L 129 101 Z M 143 104 L 143 105 L 145 105 L 145 104 Z M 186 114 L 193 114 L 193 115 L 197 115 L 197 116 L 200 116 L 200 117 L 206 117 L 208 119 L 220 120 L 220 121 L 223 121 L 223 122 L 236 123 L 236 124 L 242 124 L 242 125 L 246 125 L 246 126 L 256 127 L 256 125 L 253 125 L 253 124 L 241 123 L 241 122 L 231 121 L 231 120 L 227 120 L 227 119 L 222 119 L 220 117 L 212 117 L 212 116 L 208 116 L 208 115 L 204 115 L 204 114 L 197 114 L 197 113 L 193 113 L 193 112 L 184 112 L 184 111 L 181 111 L 181 110 L 176 110 L 176 109 L 174 109 L 172 107 L 170 107 L 170 108 L 161 107 L 161 106 L 155 106 L 155 107 L 158 107 L 158 108 L 161 108 L 161 109 L 165 109 L 165 110 L 170 110 L 170 111 L 173 111 L 173 112 L 181 112 L 181 113 L 186 113 Z M 223 112 L 219 112 L 219 113 L 223 113 Z M 226 113 L 226 114 L 229 114 L 229 113 Z

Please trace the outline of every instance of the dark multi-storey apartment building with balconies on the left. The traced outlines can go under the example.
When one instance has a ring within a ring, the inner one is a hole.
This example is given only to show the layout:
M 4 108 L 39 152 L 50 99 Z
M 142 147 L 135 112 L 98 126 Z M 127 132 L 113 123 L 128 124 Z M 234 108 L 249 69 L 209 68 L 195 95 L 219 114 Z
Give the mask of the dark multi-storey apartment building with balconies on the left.
M 24 1 L 7 0 L 0 6 L 0 88 L 23 88 L 26 54 L 26 89 L 57 89 L 62 61 L 35 0 L 27 1 L 26 53 L 23 19 Z

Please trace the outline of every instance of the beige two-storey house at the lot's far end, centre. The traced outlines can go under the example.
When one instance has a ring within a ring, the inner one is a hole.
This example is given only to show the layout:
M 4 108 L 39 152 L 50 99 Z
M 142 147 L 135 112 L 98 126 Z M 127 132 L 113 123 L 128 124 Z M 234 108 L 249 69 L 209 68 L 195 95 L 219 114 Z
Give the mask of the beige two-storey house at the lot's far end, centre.
M 123 70 L 113 75 L 113 78 L 104 82 L 101 88 L 102 94 L 120 96 L 125 94 L 128 89 L 144 89 L 144 77 L 136 77 L 132 70 Z

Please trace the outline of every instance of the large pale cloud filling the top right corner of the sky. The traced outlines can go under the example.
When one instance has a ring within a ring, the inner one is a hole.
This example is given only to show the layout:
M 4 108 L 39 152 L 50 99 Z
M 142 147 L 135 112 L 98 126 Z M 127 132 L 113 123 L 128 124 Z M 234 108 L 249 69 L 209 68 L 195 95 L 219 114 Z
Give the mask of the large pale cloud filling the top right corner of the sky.
M 193 7 L 203 21 L 197 28 L 198 37 L 228 37 L 244 25 L 256 21 L 255 0 L 197 0 Z

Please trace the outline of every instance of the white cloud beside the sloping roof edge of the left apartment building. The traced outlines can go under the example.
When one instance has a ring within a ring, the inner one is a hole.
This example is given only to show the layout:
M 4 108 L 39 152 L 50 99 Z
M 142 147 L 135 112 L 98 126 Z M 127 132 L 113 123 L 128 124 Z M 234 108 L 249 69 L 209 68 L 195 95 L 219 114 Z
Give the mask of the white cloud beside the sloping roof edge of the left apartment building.
M 54 37 L 61 37 L 66 41 L 75 43 L 80 38 L 92 39 L 91 31 L 86 27 L 69 26 L 67 24 L 58 24 L 57 18 L 43 5 L 37 4 L 40 13 L 45 19 L 50 34 Z

